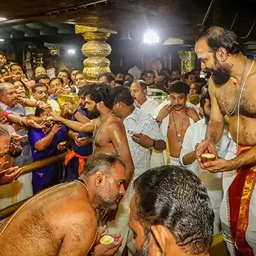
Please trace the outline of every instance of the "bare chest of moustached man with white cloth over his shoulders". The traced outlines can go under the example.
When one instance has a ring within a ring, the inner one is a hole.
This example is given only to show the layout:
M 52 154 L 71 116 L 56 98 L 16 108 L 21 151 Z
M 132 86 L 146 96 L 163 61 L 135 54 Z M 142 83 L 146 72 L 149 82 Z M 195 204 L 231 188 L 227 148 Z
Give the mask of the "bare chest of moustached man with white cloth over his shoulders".
M 197 114 L 195 114 L 195 111 L 190 108 L 186 108 L 186 110 L 181 113 L 177 113 L 175 110 L 172 110 L 172 112 L 169 114 L 167 138 L 169 143 L 170 156 L 176 158 L 179 157 L 181 153 L 183 138 L 185 136 L 186 130 L 191 125 L 191 119 L 193 122 L 198 121 L 198 116 L 196 117 L 196 115 Z M 178 135 L 181 136 L 178 137 Z

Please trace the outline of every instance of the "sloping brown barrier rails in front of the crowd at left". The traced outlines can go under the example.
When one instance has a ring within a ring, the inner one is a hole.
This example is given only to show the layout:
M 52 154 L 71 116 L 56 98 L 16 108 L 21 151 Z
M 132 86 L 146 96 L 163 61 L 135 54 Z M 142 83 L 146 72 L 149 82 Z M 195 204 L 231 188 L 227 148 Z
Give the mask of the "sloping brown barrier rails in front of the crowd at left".
M 50 156 L 47 159 L 35 161 L 31 164 L 26 164 L 21 167 L 21 175 L 28 174 L 28 173 L 35 171 L 36 169 L 42 168 L 44 166 L 48 166 L 50 164 L 55 164 L 55 163 L 58 163 L 59 161 L 63 161 L 65 159 L 66 153 L 67 152 L 58 154 L 56 156 Z M 1 209 L 0 210 L 0 220 L 9 217 L 27 200 L 28 200 L 28 198 L 26 198 L 23 201 L 20 201 L 18 203 L 14 203 L 13 205 L 8 206 L 4 209 Z

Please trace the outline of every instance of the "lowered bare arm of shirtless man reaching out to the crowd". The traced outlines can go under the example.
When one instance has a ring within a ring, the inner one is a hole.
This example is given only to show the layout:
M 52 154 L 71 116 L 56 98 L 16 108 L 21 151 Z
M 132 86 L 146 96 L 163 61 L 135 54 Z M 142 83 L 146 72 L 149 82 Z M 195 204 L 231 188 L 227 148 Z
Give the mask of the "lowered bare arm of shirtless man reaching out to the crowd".
M 129 150 L 129 144 L 127 141 L 124 124 L 122 122 L 114 122 L 113 124 L 110 124 L 107 127 L 107 134 L 109 135 L 114 149 L 117 151 L 117 154 L 126 165 L 125 188 L 127 188 L 134 174 L 134 163 L 132 161 L 132 155 Z

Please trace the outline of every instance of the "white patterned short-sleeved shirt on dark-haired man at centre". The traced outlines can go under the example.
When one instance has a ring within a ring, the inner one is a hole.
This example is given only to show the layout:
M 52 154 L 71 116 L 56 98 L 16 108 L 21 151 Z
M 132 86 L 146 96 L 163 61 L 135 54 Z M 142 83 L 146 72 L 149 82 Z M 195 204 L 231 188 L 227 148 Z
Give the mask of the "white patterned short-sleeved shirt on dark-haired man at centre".
M 132 140 L 132 133 L 142 133 L 154 140 L 164 140 L 166 138 L 161 133 L 156 120 L 150 114 L 146 114 L 135 107 L 134 112 L 124 119 L 124 127 L 127 132 L 127 140 L 129 149 L 134 162 L 134 178 L 149 170 L 150 165 L 150 149 L 145 149 Z

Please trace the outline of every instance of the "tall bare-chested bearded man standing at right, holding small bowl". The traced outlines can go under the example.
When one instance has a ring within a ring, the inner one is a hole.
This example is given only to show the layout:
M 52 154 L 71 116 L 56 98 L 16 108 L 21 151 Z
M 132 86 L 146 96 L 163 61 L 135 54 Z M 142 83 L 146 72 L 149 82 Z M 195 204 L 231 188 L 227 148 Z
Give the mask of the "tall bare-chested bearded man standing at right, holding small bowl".
M 240 51 L 238 36 L 228 28 L 212 26 L 196 41 L 196 54 L 210 70 L 211 112 L 206 139 L 197 156 L 216 155 L 215 143 L 223 134 L 228 114 L 230 134 L 238 142 L 238 156 L 215 159 L 201 168 L 211 172 L 237 170 L 224 197 L 220 217 L 231 255 L 256 254 L 256 65 Z M 225 206 L 224 206 L 225 205 Z M 225 208 L 224 208 L 225 207 Z

